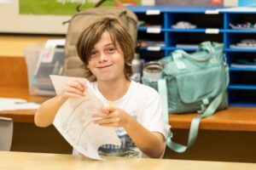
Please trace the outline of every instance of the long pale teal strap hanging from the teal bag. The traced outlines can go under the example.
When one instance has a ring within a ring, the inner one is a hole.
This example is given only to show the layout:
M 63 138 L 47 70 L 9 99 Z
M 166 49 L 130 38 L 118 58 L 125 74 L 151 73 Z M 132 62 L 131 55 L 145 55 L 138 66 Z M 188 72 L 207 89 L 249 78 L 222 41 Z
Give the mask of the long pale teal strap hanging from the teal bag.
M 169 111 L 168 111 L 166 79 L 160 79 L 158 81 L 158 91 L 159 91 L 160 97 L 162 99 L 163 114 L 164 114 L 165 121 L 166 121 L 166 123 L 169 123 L 168 122 Z M 182 153 L 182 152 L 188 150 L 189 147 L 195 143 L 195 139 L 198 134 L 201 118 L 211 116 L 217 110 L 218 105 L 221 103 L 222 98 L 223 98 L 223 93 L 218 94 L 218 96 L 212 100 L 211 104 L 207 107 L 207 110 L 204 111 L 203 114 L 201 114 L 200 116 L 195 116 L 195 118 L 193 118 L 193 120 L 190 124 L 189 139 L 188 139 L 187 145 L 177 144 L 177 143 L 173 142 L 172 137 L 171 137 L 172 133 L 169 130 L 169 132 L 167 134 L 167 139 L 166 139 L 167 146 L 169 148 L 171 148 L 172 150 L 179 152 L 179 153 Z

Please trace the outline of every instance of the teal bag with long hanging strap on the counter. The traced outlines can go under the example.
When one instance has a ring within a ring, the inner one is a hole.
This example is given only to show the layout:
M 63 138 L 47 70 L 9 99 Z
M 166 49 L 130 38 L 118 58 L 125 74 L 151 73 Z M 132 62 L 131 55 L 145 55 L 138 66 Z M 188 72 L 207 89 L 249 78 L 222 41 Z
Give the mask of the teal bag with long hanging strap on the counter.
M 229 69 L 223 44 L 202 42 L 193 54 L 176 50 L 159 62 L 163 65 L 162 78 L 154 81 L 143 77 L 142 82 L 159 91 L 165 121 L 168 123 L 168 113 L 201 113 L 190 124 L 187 145 L 173 142 L 169 132 L 166 141 L 168 147 L 183 152 L 195 143 L 201 118 L 211 116 L 215 111 L 228 106 L 226 88 Z

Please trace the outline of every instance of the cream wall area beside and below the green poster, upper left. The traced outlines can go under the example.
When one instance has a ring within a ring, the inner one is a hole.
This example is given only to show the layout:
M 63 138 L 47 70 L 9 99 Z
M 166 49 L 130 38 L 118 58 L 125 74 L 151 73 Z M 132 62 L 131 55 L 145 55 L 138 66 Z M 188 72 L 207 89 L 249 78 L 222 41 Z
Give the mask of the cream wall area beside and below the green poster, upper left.
M 69 20 L 70 16 L 21 15 L 19 14 L 19 0 L 10 2 L 0 3 L 0 32 L 29 34 L 65 34 L 67 32 L 68 25 L 62 25 L 62 22 Z

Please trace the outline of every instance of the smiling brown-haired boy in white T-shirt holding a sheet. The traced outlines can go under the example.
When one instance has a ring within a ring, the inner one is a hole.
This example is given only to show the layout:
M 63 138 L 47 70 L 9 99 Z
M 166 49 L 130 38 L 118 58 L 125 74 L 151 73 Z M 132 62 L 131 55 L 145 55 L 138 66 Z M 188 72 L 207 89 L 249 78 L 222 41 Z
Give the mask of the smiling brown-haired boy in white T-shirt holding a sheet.
M 93 114 L 100 126 L 115 127 L 121 146 L 105 144 L 102 156 L 163 155 L 166 127 L 159 94 L 143 84 L 131 81 L 134 45 L 130 34 L 116 18 L 97 20 L 79 36 L 77 51 L 84 62 L 87 78 L 106 106 Z M 35 115 L 39 127 L 49 126 L 68 98 L 86 95 L 84 82 L 73 78 L 62 93 L 45 101 Z M 109 105 L 111 103 L 112 105 Z

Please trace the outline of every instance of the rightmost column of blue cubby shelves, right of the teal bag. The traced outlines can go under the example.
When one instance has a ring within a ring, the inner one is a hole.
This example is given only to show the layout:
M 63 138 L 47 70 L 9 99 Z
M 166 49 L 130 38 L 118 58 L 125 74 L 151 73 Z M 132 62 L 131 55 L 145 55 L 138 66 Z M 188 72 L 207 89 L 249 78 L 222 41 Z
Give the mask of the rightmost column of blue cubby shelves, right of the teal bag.
M 256 22 L 256 11 L 224 12 L 224 52 L 230 63 L 230 105 L 256 106 L 256 67 L 238 68 L 231 66 L 238 59 L 256 59 L 256 48 L 231 48 L 241 39 L 256 39 L 256 29 L 232 29 L 229 24 Z

